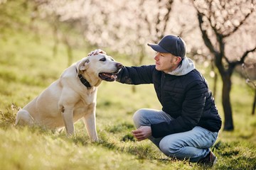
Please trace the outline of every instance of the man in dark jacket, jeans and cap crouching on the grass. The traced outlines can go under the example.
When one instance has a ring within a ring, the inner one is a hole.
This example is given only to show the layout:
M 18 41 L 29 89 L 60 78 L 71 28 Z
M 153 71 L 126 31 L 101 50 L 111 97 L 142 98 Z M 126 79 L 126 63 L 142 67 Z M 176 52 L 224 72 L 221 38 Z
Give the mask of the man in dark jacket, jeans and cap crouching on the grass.
M 137 140 L 149 139 L 168 157 L 213 166 L 210 151 L 221 127 L 220 115 L 206 79 L 186 57 L 186 44 L 166 35 L 155 50 L 154 65 L 123 67 L 117 81 L 123 84 L 154 84 L 162 110 L 140 109 L 133 120 Z

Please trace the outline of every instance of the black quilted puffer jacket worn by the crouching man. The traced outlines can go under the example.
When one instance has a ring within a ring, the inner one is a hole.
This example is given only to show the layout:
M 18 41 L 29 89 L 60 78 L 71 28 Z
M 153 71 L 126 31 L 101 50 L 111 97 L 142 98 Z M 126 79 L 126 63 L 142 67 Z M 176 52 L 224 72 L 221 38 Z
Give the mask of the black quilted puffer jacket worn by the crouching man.
M 174 76 L 157 71 L 155 65 L 124 67 L 117 81 L 123 84 L 154 84 L 162 110 L 175 119 L 169 124 L 151 125 L 153 137 L 185 132 L 195 126 L 212 132 L 220 130 L 221 118 L 213 96 L 206 80 L 196 69 L 183 76 Z

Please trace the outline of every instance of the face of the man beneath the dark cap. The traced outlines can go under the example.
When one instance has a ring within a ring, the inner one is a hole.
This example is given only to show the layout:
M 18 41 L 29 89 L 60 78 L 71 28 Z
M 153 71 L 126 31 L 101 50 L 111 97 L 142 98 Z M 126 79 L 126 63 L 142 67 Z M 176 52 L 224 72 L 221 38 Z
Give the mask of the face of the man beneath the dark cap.
M 169 73 L 178 67 L 178 63 L 181 61 L 181 57 L 176 57 L 171 55 L 171 53 L 157 52 L 154 60 L 156 61 L 157 70 Z

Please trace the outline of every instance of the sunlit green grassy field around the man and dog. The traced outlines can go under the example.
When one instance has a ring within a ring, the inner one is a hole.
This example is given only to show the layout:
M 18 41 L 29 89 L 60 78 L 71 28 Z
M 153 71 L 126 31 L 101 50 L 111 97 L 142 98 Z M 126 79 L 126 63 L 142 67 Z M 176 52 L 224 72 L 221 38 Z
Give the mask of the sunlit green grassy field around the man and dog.
M 25 106 L 58 79 L 68 59 L 63 45 L 53 57 L 50 35 L 35 35 L 29 30 L 6 30 L 0 38 L 0 49 L 0 169 L 208 169 L 170 159 L 148 140 L 134 140 L 134 111 L 161 109 L 151 85 L 136 86 L 134 93 L 132 86 L 102 82 L 97 95 L 97 143 L 90 142 L 80 121 L 75 124 L 75 137 L 66 137 L 64 131 L 14 127 L 18 107 Z M 90 50 L 75 49 L 73 62 Z M 129 65 L 126 57 L 109 54 Z M 208 72 L 205 76 L 211 86 Z M 220 83 L 217 89 L 215 99 L 223 118 Z M 220 131 L 212 148 L 218 164 L 212 169 L 256 169 L 256 118 L 250 115 L 252 91 L 236 75 L 231 98 L 235 130 Z

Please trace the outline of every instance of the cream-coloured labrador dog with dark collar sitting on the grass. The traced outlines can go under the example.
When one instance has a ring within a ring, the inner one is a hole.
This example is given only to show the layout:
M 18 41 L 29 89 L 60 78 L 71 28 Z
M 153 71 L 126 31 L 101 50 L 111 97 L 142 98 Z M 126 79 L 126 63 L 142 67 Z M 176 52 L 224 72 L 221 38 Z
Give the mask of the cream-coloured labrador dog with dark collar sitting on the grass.
M 65 69 L 58 80 L 18 111 L 15 124 L 65 127 L 67 134 L 73 135 L 75 121 L 82 118 L 90 140 L 97 142 L 97 87 L 102 80 L 114 81 L 122 64 L 95 51 Z

